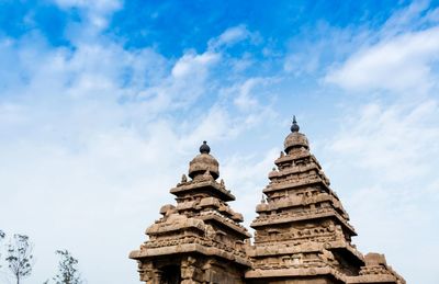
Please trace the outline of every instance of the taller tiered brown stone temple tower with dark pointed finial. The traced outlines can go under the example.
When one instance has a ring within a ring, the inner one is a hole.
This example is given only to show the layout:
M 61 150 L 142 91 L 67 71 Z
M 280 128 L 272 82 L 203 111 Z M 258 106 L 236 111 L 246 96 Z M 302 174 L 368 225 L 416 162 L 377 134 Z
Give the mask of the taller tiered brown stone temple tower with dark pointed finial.
M 357 234 L 349 216 L 299 130 L 294 117 L 284 151 L 274 161 L 277 168 L 269 173 L 270 183 L 256 207 L 247 282 L 404 283 L 384 255 L 364 258 L 351 243 Z

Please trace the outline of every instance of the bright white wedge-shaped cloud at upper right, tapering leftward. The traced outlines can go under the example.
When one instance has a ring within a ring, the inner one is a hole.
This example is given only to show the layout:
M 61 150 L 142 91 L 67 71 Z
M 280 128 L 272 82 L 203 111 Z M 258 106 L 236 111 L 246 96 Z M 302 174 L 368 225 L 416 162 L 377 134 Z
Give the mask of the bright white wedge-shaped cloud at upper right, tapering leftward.
M 350 91 L 426 93 L 437 81 L 439 27 L 384 36 L 330 70 L 325 81 Z

